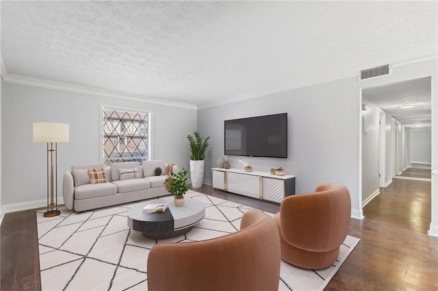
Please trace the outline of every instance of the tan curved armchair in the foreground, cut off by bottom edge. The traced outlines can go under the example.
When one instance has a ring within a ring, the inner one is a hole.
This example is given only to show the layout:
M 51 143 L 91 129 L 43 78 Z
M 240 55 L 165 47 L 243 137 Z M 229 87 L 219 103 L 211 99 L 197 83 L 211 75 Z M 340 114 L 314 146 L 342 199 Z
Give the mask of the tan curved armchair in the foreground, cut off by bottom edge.
M 278 290 L 280 261 L 274 220 L 250 210 L 233 234 L 155 245 L 147 262 L 148 290 Z

